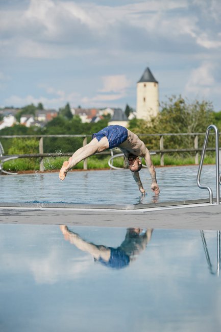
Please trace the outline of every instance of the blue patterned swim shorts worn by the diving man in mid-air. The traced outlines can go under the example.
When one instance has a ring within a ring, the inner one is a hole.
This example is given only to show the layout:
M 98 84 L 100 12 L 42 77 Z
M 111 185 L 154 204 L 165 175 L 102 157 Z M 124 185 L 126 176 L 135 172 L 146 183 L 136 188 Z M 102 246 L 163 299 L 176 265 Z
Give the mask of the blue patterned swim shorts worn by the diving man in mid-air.
M 104 136 L 106 136 L 109 141 L 109 149 L 113 149 L 118 147 L 128 138 L 128 130 L 122 126 L 112 125 L 93 134 L 92 139 L 96 137 L 96 139 L 100 141 Z

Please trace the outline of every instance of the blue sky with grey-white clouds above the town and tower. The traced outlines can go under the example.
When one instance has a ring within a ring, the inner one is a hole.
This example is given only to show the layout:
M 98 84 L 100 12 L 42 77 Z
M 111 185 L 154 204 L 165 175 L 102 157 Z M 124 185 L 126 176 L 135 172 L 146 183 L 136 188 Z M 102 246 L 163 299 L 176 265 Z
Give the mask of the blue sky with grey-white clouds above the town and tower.
M 0 107 L 136 108 L 150 67 L 159 101 L 221 110 L 220 0 L 0 0 Z

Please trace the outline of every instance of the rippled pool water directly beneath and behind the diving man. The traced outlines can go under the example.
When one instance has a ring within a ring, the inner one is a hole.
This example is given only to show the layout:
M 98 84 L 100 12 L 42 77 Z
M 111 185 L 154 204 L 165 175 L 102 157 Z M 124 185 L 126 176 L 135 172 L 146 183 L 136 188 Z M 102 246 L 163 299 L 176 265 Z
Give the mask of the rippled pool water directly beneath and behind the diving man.
M 146 204 L 208 198 L 197 186 L 198 166 L 156 168 L 160 195 L 151 192 L 147 170 L 140 178 L 147 195 L 141 196 L 129 170 L 69 172 L 62 182 L 58 173 L 0 176 L 0 203 Z M 201 183 L 215 193 L 215 165 L 204 165 Z

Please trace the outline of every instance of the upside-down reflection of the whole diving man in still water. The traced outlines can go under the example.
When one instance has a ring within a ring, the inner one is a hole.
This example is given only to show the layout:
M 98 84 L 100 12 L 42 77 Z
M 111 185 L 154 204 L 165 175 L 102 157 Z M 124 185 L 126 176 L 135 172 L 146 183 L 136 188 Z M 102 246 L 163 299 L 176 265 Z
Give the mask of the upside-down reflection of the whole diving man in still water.
M 124 268 L 135 260 L 136 256 L 145 249 L 151 240 L 153 232 L 153 229 L 143 231 L 140 228 L 128 228 L 125 240 L 121 245 L 117 248 L 111 248 L 87 242 L 77 233 L 70 231 L 67 226 L 61 225 L 60 229 L 66 241 L 69 241 L 78 249 L 90 253 L 95 262 L 116 269 Z

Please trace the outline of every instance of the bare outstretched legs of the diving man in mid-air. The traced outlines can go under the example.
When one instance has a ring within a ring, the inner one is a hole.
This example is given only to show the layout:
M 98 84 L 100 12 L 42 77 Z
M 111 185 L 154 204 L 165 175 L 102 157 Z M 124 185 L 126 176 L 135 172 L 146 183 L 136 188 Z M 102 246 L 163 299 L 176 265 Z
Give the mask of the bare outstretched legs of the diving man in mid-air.
M 78 149 L 72 157 L 68 159 L 68 161 L 64 161 L 62 168 L 59 173 L 60 180 L 64 180 L 65 176 L 67 175 L 67 172 L 72 169 L 77 163 L 79 163 L 81 160 L 92 156 L 94 153 L 102 152 L 109 148 L 109 142 L 107 137 L 103 137 L 100 141 L 98 141 L 95 137 L 85 145 L 84 147 Z

